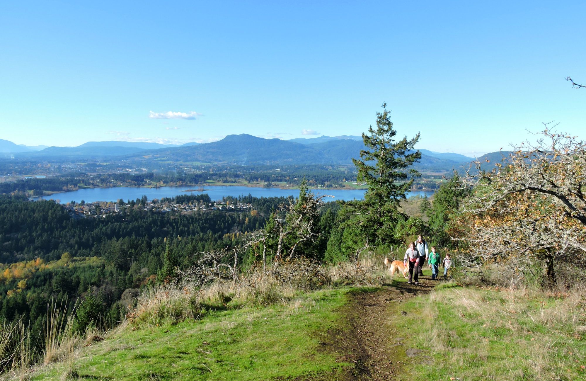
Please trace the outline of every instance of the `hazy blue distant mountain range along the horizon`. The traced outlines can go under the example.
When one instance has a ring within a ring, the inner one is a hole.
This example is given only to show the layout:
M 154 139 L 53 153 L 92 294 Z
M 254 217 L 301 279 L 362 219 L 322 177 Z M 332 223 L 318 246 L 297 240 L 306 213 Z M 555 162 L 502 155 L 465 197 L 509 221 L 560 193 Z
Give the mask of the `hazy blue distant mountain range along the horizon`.
M 359 158 L 364 149 L 362 137 L 342 135 L 337 137 L 297 138 L 292 140 L 264 139 L 253 135 L 228 135 L 216 142 L 183 145 L 164 145 L 150 142 L 103 141 L 87 142 L 77 147 L 33 147 L 16 145 L 0 140 L 0 152 L 10 152 L 9 157 L 38 159 L 91 159 L 105 158 L 143 162 L 153 160 L 202 162 L 214 164 L 273 164 L 273 165 L 351 165 L 352 158 Z M 38 148 L 37 148 L 38 149 Z M 415 168 L 427 172 L 443 172 L 468 167 L 473 158 L 455 153 L 442 153 L 420 149 L 421 160 Z M 500 162 L 502 154 L 492 152 L 479 160 L 483 168 L 492 168 Z M 486 162 L 489 160 L 489 162 Z

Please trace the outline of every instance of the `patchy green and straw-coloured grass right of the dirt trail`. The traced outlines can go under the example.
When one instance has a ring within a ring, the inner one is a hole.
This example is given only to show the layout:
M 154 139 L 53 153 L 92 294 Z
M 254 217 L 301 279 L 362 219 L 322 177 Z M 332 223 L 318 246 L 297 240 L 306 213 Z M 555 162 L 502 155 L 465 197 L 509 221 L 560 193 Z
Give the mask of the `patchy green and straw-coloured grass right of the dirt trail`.
M 453 285 L 402 305 L 398 329 L 431 357 L 409 379 L 586 380 L 584 296 Z

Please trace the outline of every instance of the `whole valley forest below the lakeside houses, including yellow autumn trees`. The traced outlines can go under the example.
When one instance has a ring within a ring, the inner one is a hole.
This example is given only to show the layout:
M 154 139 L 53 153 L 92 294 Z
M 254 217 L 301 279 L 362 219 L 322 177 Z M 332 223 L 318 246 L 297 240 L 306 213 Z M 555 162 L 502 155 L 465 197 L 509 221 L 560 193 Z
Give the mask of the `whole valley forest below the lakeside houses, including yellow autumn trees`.
M 231 201 L 253 208 L 185 214 L 145 212 L 137 204 L 118 215 L 79 218 L 53 201 L 0 195 L 0 322 L 30 325 L 39 350 L 51 301 L 69 312 L 77 304 L 78 315 L 92 314 L 82 320 L 112 326 L 127 311 L 128 298 L 156 282 L 166 248 L 179 267 L 188 267 L 202 251 L 238 244 L 289 202 L 252 196 Z

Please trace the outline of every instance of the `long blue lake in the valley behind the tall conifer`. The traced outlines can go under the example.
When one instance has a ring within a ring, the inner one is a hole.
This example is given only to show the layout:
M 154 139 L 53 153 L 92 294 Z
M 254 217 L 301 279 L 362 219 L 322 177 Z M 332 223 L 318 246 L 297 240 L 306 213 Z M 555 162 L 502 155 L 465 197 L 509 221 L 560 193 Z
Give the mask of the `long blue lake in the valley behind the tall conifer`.
M 299 196 L 298 189 L 280 189 L 280 188 L 254 188 L 251 186 L 225 186 L 225 185 L 208 185 L 204 187 L 203 192 L 186 192 L 189 189 L 197 189 L 197 185 L 191 186 L 162 186 L 161 188 L 141 188 L 139 186 L 118 186 L 115 188 L 87 188 L 74 190 L 73 192 L 56 193 L 50 196 L 41 196 L 34 199 L 39 200 L 59 200 L 60 203 L 67 203 L 70 201 L 85 202 L 94 201 L 117 201 L 122 199 L 136 200 L 146 195 L 149 200 L 161 199 L 163 197 L 173 197 L 177 195 L 186 195 L 189 193 L 207 193 L 212 200 L 221 200 L 223 196 L 248 195 L 250 193 L 254 197 L 280 197 L 280 196 Z M 312 189 L 316 195 L 330 195 L 333 198 L 326 198 L 328 200 L 353 200 L 363 199 L 364 189 Z M 434 192 L 430 190 L 416 190 L 409 192 L 407 197 L 424 196 L 427 194 L 431 196 Z

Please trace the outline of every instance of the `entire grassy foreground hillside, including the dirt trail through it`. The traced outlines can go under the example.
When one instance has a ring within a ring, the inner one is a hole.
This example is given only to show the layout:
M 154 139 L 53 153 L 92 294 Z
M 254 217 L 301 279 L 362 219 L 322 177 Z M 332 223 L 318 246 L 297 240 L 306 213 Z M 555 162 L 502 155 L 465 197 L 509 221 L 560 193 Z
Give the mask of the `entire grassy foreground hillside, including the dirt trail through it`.
M 427 269 L 415 286 L 379 278 L 376 262 L 367 263 L 372 276 L 362 275 L 378 279 L 376 288 L 304 292 L 259 283 L 239 297 L 226 284 L 151 290 L 114 331 L 62 341 L 49 356 L 60 362 L 13 369 L 4 378 L 586 379 L 581 287 L 557 293 L 458 287 L 431 281 Z M 329 271 L 338 281 L 361 274 L 335 268 Z

